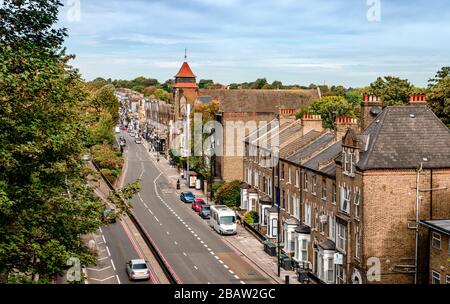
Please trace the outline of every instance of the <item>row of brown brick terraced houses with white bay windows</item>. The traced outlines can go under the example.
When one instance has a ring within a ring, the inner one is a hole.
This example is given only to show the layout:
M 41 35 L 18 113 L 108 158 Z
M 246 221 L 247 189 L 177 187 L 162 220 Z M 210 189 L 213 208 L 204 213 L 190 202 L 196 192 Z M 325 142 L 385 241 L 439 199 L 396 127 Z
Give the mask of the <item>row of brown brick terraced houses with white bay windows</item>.
M 268 203 L 272 192 L 254 178 L 270 170 L 250 155 L 243 188 L 262 198 L 256 205 L 264 210 L 255 210 L 266 238 L 275 242 L 281 225 L 283 251 L 312 281 L 427 282 L 427 257 L 417 252 L 416 259 L 417 220 L 450 216 L 450 131 L 424 96 L 383 109 L 379 98 L 366 95 L 361 115 L 359 124 L 338 118 L 335 131 L 322 130 L 320 117 L 306 116 L 289 138 L 283 134 L 295 123 L 280 127 L 272 191 L 280 193 L 280 221 L 277 206 Z M 258 149 L 248 139 L 246 145 L 249 153 Z M 417 239 L 418 248 L 427 247 L 427 239 Z

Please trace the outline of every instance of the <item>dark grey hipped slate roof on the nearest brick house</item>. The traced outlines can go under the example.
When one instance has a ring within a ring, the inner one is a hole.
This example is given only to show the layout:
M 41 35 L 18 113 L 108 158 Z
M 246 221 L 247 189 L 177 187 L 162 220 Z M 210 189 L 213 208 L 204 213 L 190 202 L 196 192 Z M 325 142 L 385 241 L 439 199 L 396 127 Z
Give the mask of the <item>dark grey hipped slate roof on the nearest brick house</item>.
M 450 168 L 450 130 L 424 105 L 386 107 L 359 138 L 361 170 Z

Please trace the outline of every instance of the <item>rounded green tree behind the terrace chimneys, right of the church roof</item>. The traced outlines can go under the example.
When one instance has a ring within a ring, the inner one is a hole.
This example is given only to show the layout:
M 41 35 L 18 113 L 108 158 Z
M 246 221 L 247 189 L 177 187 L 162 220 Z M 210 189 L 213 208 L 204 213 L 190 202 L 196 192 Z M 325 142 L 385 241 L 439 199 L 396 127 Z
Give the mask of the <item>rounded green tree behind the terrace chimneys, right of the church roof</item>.
M 316 99 L 311 104 L 300 110 L 296 116 L 301 118 L 303 114 L 322 115 L 324 128 L 335 128 L 337 117 L 355 117 L 353 106 L 344 98 L 339 96 L 327 96 Z

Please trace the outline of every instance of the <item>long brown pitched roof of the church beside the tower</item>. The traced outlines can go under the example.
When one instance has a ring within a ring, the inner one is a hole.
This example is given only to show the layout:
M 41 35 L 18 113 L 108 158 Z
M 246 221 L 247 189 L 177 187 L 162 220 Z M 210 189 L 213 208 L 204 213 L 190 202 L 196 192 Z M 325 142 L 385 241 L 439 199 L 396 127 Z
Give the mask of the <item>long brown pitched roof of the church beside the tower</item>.
M 218 100 L 222 112 L 278 113 L 300 109 L 317 99 L 317 90 L 199 90 Z

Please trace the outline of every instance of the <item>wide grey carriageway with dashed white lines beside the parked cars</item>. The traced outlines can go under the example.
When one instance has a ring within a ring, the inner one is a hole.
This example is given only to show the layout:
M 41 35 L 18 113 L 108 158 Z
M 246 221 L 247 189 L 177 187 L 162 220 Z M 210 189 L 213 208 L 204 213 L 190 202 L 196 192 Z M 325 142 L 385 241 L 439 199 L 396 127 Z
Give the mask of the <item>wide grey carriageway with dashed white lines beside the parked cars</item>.
M 118 134 L 124 135 L 125 133 Z M 183 284 L 268 284 L 270 281 L 231 249 L 183 204 L 143 145 L 127 136 L 126 183 L 141 179 L 135 216 Z

